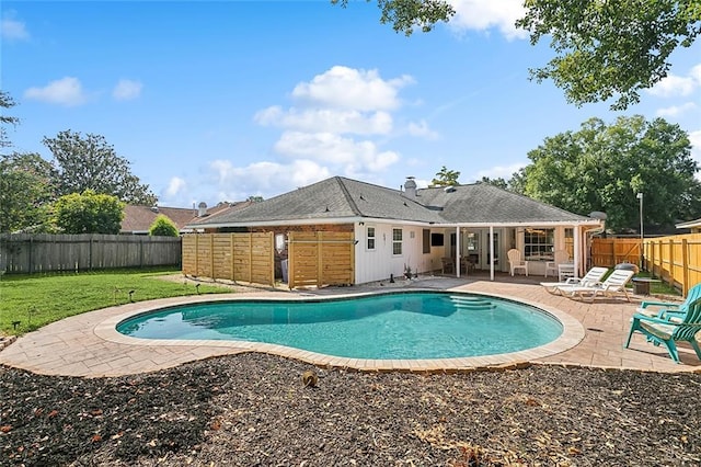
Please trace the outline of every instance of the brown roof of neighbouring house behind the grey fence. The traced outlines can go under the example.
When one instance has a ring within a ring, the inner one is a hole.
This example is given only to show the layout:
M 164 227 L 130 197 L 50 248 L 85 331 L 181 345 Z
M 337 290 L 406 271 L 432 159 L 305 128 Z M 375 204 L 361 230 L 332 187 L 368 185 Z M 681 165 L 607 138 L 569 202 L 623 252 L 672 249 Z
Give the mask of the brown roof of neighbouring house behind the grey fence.
M 189 224 L 197 224 L 199 220 L 214 218 L 220 214 L 241 209 L 249 206 L 251 202 L 219 203 L 210 208 L 206 203 L 199 203 L 197 207 L 164 207 L 164 206 L 137 206 L 126 205 L 124 207 L 124 218 L 119 234 L 123 235 L 149 235 L 149 229 L 159 215 L 171 219 L 181 234 L 196 231 L 196 228 L 186 227 Z

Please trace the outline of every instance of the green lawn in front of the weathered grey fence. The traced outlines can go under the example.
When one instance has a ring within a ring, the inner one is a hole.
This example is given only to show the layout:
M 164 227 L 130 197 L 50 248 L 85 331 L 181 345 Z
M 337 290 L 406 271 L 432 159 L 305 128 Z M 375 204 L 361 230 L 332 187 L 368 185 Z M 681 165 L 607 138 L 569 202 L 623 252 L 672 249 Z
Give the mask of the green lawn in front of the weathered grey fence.
M 116 270 L 92 273 L 3 275 L 0 334 L 23 334 L 73 315 L 133 301 L 231 292 L 203 284 L 163 281 L 177 270 Z M 129 294 L 134 291 L 133 294 Z

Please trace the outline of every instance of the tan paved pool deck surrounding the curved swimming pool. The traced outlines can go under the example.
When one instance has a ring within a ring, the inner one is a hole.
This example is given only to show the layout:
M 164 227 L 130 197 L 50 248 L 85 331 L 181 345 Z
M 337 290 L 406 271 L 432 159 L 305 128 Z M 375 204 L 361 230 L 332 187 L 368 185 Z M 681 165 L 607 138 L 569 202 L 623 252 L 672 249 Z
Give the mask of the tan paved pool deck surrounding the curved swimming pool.
M 253 291 L 222 295 L 174 297 L 150 303 L 125 304 L 91 311 L 54 322 L 30 332 L 0 351 L 0 364 L 45 375 L 119 376 L 153 372 L 211 356 L 261 351 L 311 364 L 358 371 L 441 372 L 484 367 L 512 367 L 525 364 L 555 364 L 601 368 L 628 368 L 652 372 L 701 372 L 701 362 L 689 345 L 679 345 L 682 364 L 676 364 L 666 349 L 654 346 L 636 333 L 630 349 L 623 349 L 630 318 L 642 299 L 597 298 L 582 301 L 549 294 L 538 284 L 541 278 L 423 277 L 399 284 L 372 284 L 354 287 L 327 287 L 320 291 Z M 309 298 L 309 296 L 348 296 L 389 289 L 440 289 L 471 292 L 514 298 L 539 306 L 563 321 L 565 332 L 552 344 L 513 354 L 484 357 L 437 358 L 425 361 L 360 361 L 338 358 L 273 344 L 223 341 L 139 340 L 118 334 L 116 322 L 152 308 L 183 303 L 226 298 Z

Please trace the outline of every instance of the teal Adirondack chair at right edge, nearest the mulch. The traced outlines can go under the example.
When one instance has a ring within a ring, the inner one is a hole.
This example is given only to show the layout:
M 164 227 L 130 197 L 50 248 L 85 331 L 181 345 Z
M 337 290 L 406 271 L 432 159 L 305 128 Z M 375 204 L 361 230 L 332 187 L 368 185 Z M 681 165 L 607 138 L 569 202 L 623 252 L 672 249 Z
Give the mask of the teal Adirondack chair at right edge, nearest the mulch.
M 633 315 L 631 330 L 628 333 L 625 349 L 631 343 L 633 332 L 640 332 L 655 345 L 665 344 L 671 360 L 679 362 L 679 352 L 676 342 L 686 341 L 691 344 L 697 356 L 701 360 L 701 349 L 696 340 L 696 334 L 701 331 L 701 298 L 689 303 L 687 312 L 679 317 L 679 321 L 665 318 L 651 317 L 636 312 Z

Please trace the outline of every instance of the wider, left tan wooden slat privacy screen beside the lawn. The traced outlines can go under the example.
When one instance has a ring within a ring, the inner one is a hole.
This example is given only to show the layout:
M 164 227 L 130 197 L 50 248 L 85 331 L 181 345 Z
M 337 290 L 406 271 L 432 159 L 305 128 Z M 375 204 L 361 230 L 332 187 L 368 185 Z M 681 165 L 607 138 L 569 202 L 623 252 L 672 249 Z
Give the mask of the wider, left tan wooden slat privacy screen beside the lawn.
M 183 274 L 275 285 L 273 232 L 186 235 Z

